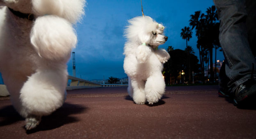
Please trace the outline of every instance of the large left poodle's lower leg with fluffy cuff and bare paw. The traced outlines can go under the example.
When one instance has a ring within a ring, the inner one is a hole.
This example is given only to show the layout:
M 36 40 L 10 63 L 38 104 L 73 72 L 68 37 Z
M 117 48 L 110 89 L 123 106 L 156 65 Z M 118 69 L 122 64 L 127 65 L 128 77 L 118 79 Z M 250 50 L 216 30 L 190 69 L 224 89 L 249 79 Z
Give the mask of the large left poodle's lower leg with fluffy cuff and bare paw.
M 21 89 L 20 114 L 26 118 L 25 128 L 35 128 L 41 116 L 47 116 L 62 106 L 67 82 L 66 70 L 38 70 Z

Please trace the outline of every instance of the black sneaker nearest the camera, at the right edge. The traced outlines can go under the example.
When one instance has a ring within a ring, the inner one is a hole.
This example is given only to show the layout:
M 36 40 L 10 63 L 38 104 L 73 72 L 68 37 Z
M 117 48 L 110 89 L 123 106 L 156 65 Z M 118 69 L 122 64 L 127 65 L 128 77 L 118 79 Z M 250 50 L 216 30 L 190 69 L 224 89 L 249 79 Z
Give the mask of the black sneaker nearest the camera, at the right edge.
M 234 105 L 236 106 L 255 102 L 255 98 L 256 81 L 254 80 L 247 80 L 234 91 Z

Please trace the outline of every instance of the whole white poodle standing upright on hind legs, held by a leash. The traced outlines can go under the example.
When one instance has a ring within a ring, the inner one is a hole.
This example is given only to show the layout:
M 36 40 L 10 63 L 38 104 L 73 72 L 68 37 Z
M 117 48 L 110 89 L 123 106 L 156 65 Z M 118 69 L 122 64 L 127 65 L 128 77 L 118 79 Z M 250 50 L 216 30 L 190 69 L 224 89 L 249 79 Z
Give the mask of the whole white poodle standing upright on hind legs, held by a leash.
M 158 46 L 168 37 L 163 35 L 164 26 L 149 16 L 135 17 L 128 22 L 123 68 L 129 77 L 129 96 L 139 105 L 146 101 L 157 103 L 165 92 L 163 63 L 170 58 L 169 53 Z

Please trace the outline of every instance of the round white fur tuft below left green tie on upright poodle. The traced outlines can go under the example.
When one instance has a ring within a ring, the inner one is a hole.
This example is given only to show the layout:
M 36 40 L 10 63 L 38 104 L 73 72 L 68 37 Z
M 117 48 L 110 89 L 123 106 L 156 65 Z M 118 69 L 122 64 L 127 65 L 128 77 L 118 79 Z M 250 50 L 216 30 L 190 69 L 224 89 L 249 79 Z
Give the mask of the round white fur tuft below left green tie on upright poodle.
M 137 47 L 135 55 L 138 63 L 145 63 L 151 55 L 151 48 L 143 43 Z

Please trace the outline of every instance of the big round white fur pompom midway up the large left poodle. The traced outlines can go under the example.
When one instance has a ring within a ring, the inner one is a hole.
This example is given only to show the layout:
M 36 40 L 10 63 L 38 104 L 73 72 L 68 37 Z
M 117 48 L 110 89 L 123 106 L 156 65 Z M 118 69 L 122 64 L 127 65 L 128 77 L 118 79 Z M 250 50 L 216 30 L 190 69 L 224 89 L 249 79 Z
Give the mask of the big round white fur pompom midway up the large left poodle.
M 31 30 L 30 41 L 39 56 L 67 61 L 77 37 L 71 23 L 55 15 L 38 17 Z

